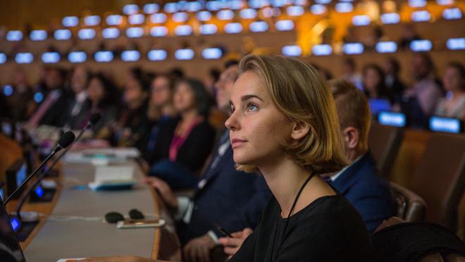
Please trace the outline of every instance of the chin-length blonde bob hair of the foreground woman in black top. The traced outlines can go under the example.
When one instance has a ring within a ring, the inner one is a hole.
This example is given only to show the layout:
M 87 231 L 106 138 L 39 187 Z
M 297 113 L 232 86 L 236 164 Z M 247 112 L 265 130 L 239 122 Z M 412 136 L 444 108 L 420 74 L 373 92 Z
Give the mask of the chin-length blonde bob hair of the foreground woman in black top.
M 309 133 L 297 141 L 283 141 L 285 153 L 314 173 L 333 173 L 347 160 L 339 120 L 330 88 L 318 71 L 295 58 L 248 55 L 239 64 L 240 74 L 252 72 L 266 84 L 278 111 L 290 120 L 310 125 Z M 256 166 L 237 165 L 246 172 Z

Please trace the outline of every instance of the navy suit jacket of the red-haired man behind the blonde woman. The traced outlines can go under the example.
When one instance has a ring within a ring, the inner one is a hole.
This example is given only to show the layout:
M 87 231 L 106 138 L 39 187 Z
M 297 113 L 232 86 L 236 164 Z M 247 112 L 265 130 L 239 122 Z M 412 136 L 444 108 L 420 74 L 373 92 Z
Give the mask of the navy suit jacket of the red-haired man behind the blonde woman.
M 383 220 L 395 216 L 390 185 L 378 175 L 376 162 L 369 151 L 330 185 L 359 211 L 371 234 Z

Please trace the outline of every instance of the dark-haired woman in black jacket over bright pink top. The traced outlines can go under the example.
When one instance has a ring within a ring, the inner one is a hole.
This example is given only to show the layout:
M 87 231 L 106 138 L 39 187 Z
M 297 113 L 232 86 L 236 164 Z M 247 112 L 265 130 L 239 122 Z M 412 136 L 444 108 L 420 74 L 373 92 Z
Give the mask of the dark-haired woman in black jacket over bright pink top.
M 149 175 L 165 180 L 173 189 L 197 185 L 199 173 L 213 147 L 215 130 L 208 123 L 209 94 L 202 82 L 180 80 L 173 94 L 178 118 L 161 123 Z

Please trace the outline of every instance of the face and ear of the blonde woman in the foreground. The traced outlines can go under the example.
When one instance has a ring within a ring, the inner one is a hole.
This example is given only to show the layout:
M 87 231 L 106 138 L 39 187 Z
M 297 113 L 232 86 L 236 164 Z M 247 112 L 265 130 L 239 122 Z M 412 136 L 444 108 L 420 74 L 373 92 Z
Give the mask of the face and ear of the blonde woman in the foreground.
M 246 72 L 237 79 L 230 105 L 232 113 L 225 125 L 235 163 L 261 166 L 283 158 L 282 143 L 290 139 L 292 121 L 278 111 L 258 75 Z

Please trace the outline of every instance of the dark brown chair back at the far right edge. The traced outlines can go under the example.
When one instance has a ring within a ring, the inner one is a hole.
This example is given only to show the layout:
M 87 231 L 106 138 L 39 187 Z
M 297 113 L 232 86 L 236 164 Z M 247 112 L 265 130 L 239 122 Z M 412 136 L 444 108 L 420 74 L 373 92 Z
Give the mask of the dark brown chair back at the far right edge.
M 465 135 L 431 135 L 410 188 L 428 205 L 426 221 L 455 232 L 458 206 L 465 189 Z

